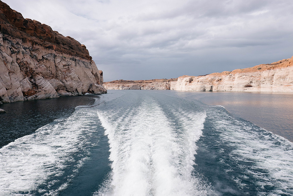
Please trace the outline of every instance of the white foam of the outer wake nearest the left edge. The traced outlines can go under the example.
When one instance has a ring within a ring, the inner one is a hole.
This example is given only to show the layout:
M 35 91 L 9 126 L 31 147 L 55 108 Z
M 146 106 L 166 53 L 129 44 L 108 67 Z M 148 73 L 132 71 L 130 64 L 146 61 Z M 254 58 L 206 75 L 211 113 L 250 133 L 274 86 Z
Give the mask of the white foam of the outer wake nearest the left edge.
M 74 162 L 73 169 L 80 167 L 84 158 L 75 163 L 71 155 L 86 153 L 86 137 L 94 126 L 89 115 L 93 114 L 86 109 L 78 110 L 63 121 L 45 125 L 1 148 L 0 195 L 48 191 L 56 182 L 54 176 L 62 175 L 68 163 Z M 38 190 L 44 183 L 48 190 Z

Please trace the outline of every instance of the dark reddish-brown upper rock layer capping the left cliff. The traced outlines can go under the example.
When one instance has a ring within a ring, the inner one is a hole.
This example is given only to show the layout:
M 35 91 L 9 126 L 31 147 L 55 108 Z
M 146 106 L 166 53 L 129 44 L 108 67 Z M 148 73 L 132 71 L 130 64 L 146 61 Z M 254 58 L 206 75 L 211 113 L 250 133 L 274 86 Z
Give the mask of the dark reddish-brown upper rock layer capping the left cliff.
M 31 46 L 40 44 L 45 48 L 91 60 L 86 47 L 74 38 L 64 37 L 57 31 L 53 31 L 50 26 L 36 20 L 24 19 L 21 13 L 12 10 L 1 1 L 0 24 L 2 34 L 20 38 L 22 42 L 28 42 Z

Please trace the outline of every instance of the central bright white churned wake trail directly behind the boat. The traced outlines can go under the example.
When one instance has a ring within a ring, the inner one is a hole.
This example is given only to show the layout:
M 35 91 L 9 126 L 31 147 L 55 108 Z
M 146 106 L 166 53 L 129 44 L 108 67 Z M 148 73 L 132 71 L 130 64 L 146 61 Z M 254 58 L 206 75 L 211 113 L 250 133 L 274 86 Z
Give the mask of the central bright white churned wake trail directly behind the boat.
M 109 138 L 112 174 L 97 195 L 207 195 L 207 185 L 193 175 L 195 142 L 206 115 L 174 115 L 179 129 L 151 98 L 124 112 L 98 112 Z

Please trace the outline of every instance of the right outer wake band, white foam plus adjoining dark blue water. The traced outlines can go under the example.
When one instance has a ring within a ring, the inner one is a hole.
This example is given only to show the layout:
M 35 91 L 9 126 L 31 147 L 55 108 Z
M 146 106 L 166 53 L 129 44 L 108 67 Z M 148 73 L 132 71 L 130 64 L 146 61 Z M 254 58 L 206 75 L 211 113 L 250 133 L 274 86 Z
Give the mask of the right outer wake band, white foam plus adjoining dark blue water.
M 218 195 L 293 195 L 293 144 L 222 108 L 206 110 L 195 161 Z

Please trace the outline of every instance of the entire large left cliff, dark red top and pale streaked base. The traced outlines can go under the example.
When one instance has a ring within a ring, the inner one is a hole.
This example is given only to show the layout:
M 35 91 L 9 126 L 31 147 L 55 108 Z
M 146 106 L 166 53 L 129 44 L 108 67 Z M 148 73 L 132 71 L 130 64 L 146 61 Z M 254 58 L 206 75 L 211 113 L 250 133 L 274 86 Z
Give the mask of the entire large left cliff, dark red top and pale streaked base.
M 86 46 L 0 1 L 0 101 L 107 93 Z

